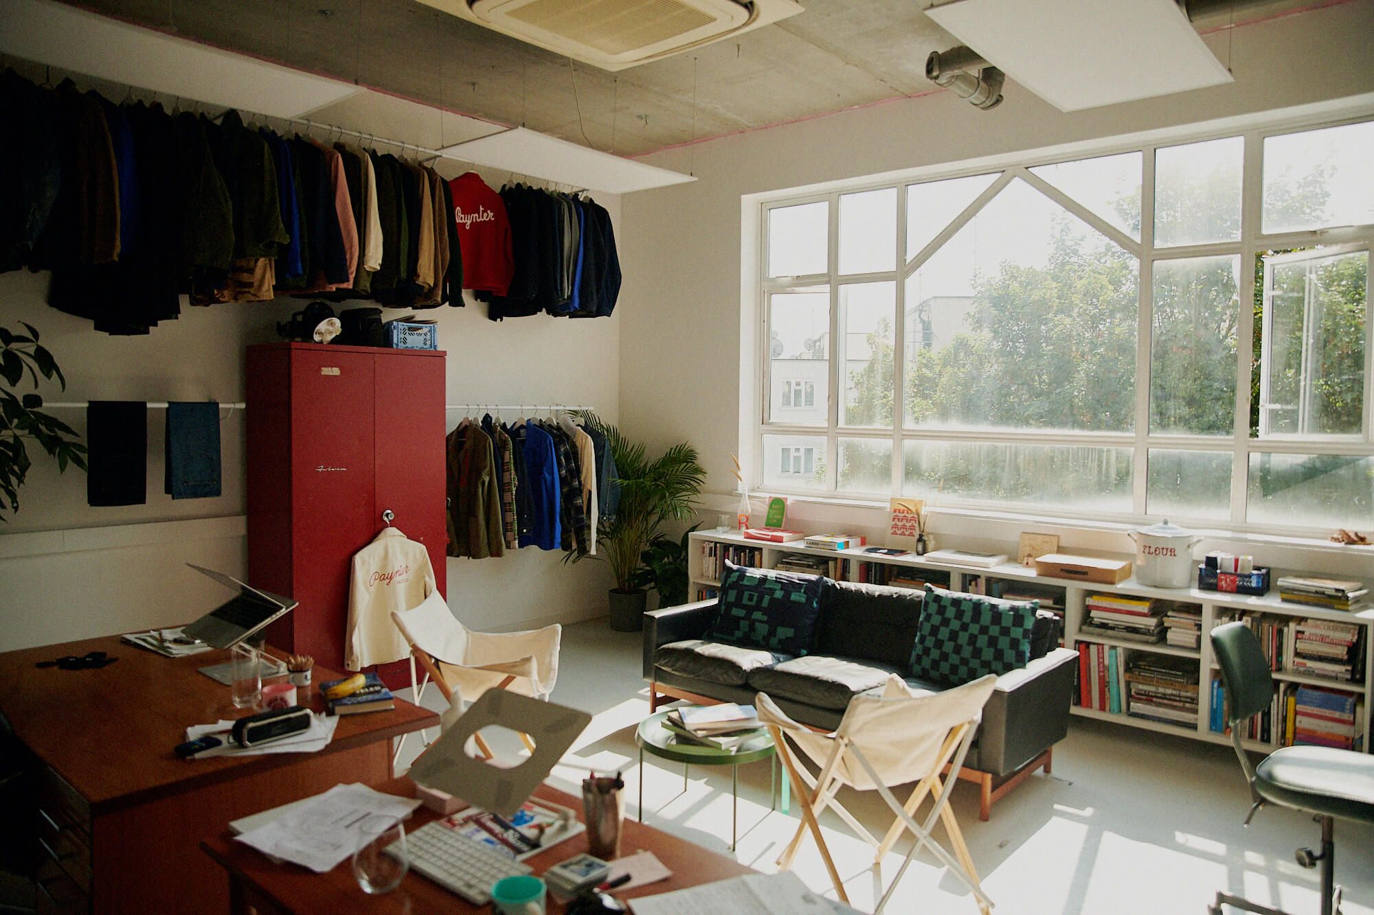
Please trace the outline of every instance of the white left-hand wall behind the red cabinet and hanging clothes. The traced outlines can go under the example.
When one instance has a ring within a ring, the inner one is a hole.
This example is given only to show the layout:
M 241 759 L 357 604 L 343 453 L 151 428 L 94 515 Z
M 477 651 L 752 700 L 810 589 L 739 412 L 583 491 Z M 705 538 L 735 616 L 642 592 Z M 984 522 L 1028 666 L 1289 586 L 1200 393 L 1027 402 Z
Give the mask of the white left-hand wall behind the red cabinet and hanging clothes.
M 456 174 L 445 165 L 441 173 Z M 506 174 L 485 177 L 499 187 Z M 618 229 L 620 199 L 596 201 Z M 0 326 L 18 330 L 25 320 L 38 328 L 67 376 L 65 393 L 55 385 L 40 393 L 70 401 L 243 400 L 245 348 L 279 339 L 276 321 L 309 301 L 183 306 L 180 320 L 147 337 L 107 337 L 49 308 L 47 286 L 48 273 L 0 273 Z M 385 317 L 403 313 L 387 309 Z M 489 321 L 484 305 L 425 315 L 438 320 L 440 348 L 448 352 L 448 403 L 581 404 L 616 422 L 622 309 L 610 319 L 502 323 Z M 84 411 L 60 418 L 84 431 Z M 449 414 L 448 426 L 459 419 Z M 59 475 L 30 447 L 34 467 L 21 510 L 0 532 L 0 651 L 172 625 L 210 609 L 217 587 L 181 563 L 245 572 L 242 414 L 221 423 L 221 441 L 224 495 L 173 501 L 162 495 L 164 415 L 150 411 L 147 504 L 118 508 L 88 507 L 85 474 Z M 561 552 L 528 548 L 502 559 L 448 561 L 449 606 L 480 629 L 600 615 L 609 587 L 603 563 L 566 566 Z

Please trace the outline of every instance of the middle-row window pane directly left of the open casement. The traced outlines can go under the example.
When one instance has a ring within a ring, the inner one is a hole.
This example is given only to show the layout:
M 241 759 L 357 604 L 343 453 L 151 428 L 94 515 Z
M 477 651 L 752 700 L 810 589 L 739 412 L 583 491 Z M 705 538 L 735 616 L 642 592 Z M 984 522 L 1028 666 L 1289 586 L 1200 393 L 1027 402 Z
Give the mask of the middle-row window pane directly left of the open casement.
M 1151 433 L 1232 434 L 1239 282 L 1239 256 L 1156 261 Z

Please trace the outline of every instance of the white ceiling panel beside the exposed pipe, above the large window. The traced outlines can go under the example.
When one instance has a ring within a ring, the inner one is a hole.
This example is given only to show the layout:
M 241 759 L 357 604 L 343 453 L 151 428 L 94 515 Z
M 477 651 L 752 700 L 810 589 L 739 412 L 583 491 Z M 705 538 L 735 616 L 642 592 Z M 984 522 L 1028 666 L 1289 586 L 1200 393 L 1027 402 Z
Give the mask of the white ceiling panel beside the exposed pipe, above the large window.
M 1061 111 L 1231 81 L 1175 0 L 954 0 L 926 14 Z

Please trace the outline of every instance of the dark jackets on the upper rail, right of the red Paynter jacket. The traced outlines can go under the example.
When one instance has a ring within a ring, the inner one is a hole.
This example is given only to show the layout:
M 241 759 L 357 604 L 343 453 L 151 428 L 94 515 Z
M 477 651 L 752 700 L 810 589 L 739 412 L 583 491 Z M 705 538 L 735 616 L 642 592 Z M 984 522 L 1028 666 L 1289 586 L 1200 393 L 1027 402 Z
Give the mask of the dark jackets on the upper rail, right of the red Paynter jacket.
M 510 223 L 511 268 L 504 289 L 500 283 L 488 289 L 488 317 L 499 321 L 541 312 L 609 317 L 621 273 L 606 209 L 525 184 L 503 187 L 496 199 Z

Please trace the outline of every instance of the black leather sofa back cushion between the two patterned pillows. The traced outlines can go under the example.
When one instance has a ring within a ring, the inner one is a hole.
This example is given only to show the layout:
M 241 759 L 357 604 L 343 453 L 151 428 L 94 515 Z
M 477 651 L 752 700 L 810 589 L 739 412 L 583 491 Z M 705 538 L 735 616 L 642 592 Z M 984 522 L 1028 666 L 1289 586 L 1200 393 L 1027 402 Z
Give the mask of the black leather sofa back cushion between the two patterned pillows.
M 871 658 L 905 670 L 925 594 L 856 581 L 820 580 L 816 654 Z

